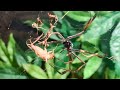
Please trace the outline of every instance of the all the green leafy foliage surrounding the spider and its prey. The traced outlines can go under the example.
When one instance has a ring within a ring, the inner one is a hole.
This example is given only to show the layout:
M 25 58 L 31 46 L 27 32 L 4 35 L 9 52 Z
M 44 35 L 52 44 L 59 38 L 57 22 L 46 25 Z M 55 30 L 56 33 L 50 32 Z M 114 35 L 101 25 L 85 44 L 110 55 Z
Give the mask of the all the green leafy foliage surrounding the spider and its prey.
M 71 40 L 74 49 L 83 49 L 91 53 L 106 55 L 104 58 L 94 56 L 88 58 L 82 53 L 76 55 L 86 62 L 85 67 L 73 74 L 67 72 L 59 74 L 57 71 L 68 69 L 69 61 L 67 51 L 63 50 L 62 43 L 50 44 L 48 51 L 55 49 L 55 58 L 45 63 L 31 50 L 22 50 L 13 35 L 10 34 L 7 45 L 0 39 L 0 78 L 12 79 L 118 79 L 120 78 L 120 12 L 119 11 L 53 11 L 58 16 L 58 23 L 54 32 L 60 32 L 65 38 L 82 31 L 85 23 L 97 13 L 96 19 L 87 31 L 80 37 Z M 49 22 L 43 20 L 43 28 L 49 29 Z M 24 21 L 31 26 L 34 21 Z M 46 33 L 47 30 L 39 29 Z M 60 40 L 57 35 L 49 39 Z M 61 53 L 62 51 L 62 53 Z M 89 56 L 91 54 L 87 54 Z M 73 56 L 72 69 L 76 70 L 81 62 Z M 54 65 L 55 67 L 52 67 Z

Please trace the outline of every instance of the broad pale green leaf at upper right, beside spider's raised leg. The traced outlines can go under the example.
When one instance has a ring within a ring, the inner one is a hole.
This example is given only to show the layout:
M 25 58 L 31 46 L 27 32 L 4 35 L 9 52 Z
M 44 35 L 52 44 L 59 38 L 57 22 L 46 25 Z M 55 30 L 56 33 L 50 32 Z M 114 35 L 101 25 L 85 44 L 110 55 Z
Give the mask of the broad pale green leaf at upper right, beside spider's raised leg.
M 80 40 L 98 46 L 101 35 L 111 30 L 119 16 L 120 12 L 112 12 L 104 15 L 104 17 L 96 18 L 88 28 L 87 32 L 80 37 Z

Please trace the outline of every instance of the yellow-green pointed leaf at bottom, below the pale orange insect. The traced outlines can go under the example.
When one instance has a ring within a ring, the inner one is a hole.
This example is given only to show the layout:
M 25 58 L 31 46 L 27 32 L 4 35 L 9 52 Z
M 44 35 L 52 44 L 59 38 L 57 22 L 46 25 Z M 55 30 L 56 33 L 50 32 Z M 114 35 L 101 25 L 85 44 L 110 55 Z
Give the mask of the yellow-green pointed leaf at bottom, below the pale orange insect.
M 46 73 L 37 65 L 23 64 L 23 68 L 34 78 L 48 79 Z

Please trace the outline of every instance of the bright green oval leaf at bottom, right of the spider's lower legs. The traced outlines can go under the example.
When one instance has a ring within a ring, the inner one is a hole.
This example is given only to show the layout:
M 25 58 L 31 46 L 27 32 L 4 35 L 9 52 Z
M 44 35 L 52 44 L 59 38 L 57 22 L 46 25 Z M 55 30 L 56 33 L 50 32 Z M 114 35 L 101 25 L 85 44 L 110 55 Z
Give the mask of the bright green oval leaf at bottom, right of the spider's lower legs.
M 100 67 L 101 63 L 102 59 L 98 58 L 97 56 L 89 59 L 84 69 L 84 79 L 90 78 Z

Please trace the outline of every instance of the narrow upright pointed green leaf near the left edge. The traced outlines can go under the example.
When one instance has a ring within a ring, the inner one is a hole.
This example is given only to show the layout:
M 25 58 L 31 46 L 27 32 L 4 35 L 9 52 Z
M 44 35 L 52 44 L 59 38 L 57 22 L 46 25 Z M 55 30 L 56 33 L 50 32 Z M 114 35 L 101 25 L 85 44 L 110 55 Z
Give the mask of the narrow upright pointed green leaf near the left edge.
M 13 62 L 13 54 L 14 54 L 14 50 L 15 50 L 15 40 L 13 38 L 13 34 L 10 34 L 10 36 L 9 36 L 7 50 L 8 50 L 10 60 L 11 60 L 11 62 Z

